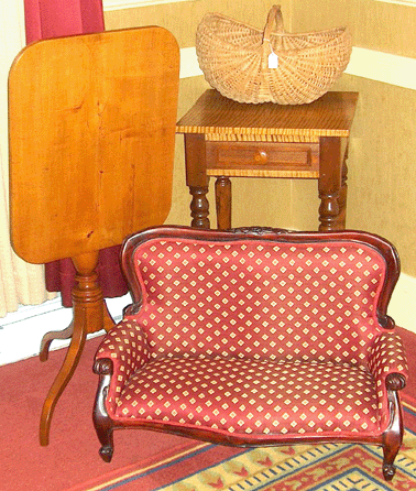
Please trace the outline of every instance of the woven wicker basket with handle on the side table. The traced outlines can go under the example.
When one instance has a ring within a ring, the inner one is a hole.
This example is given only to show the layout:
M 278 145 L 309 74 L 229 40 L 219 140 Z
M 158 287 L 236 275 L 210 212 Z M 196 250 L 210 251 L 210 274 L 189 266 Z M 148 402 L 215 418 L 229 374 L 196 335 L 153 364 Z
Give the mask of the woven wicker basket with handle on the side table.
M 274 22 L 276 32 L 272 32 Z M 197 29 L 196 51 L 207 81 L 239 102 L 308 103 L 329 90 L 351 55 L 346 28 L 286 33 L 274 6 L 264 31 L 225 15 L 208 13 Z M 278 67 L 269 68 L 269 55 Z

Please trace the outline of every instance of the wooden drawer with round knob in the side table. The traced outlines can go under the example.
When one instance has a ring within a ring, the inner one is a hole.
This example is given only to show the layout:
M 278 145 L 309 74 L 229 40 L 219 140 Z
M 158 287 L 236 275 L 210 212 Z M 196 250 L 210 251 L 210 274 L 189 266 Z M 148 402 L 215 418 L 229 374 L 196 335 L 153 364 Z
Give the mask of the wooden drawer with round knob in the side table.
M 207 170 L 319 173 L 319 143 L 210 141 L 206 145 Z

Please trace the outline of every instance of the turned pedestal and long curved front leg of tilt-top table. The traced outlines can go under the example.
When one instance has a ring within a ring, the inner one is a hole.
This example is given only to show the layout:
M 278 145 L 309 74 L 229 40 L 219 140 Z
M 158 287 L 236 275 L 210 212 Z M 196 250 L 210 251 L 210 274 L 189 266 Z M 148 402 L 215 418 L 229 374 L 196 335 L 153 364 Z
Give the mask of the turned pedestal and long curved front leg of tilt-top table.
M 98 252 L 80 254 L 74 258 L 73 262 L 77 273 L 76 284 L 73 288 L 74 318 L 69 326 L 73 330 L 72 340 L 64 363 L 43 405 L 40 426 L 40 440 L 43 446 L 48 445 L 51 421 L 56 403 L 78 365 L 87 335 L 97 332 L 105 326 L 108 329 L 113 324 L 103 302 L 102 292 L 97 281 L 98 275 L 95 271 Z

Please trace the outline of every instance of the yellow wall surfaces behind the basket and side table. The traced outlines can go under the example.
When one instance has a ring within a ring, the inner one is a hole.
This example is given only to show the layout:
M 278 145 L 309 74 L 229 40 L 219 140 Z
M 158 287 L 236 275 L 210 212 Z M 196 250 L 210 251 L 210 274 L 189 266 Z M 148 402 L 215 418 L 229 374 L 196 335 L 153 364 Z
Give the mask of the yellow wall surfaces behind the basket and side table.
M 374 0 L 286 0 L 285 26 L 292 32 L 348 25 L 354 46 L 416 57 L 416 8 Z M 180 47 L 195 45 L 202 15 L 217 11 L 262 28 L 272 2 L 197 0 L 107 12 L 107 29 L 156 24 L 168 29 Z M 204 77 L 180 81 L 178 117 L 208 87 Z M 343 75 L 333 87 L 360 92 L 349 159 L 347 226 L 381 233 L 397 247 L 403 271 L 416 276 L 416 91 Z M 316 181 L 232 179 L 233 226 L 263 225 L 316 229 Z M 214 187 L 214 183 L 211 183 Z M 211 225 L 215 226 L 210 190 Z M 177 137 L 174 203 L 168 221 L 189 223 L 183 138 Z

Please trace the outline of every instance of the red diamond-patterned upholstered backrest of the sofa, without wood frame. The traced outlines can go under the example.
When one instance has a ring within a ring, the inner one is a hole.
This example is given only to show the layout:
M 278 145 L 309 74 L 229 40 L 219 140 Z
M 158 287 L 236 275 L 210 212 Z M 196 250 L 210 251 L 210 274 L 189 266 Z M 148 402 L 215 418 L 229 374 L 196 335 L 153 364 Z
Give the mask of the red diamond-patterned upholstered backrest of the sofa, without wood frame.
M 365 364 L 369 342 L 383 330 L 385 259 L 339 236 L 150 238 L 136 246 L 133 264 L 136 319 L 153 357 Z

